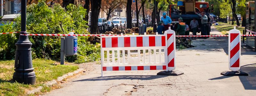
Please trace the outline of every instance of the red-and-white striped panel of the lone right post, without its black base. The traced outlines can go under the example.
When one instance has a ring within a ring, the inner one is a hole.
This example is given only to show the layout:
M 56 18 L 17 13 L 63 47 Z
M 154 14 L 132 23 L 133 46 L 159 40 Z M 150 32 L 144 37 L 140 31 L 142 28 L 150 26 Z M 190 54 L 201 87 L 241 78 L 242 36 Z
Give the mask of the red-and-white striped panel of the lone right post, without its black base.
M 228 36 L 228 61 L 229 69 L 237 71 L 240 69 L 241 57 L 241 35 L 240 31 L 234 27 L 229 31 Z

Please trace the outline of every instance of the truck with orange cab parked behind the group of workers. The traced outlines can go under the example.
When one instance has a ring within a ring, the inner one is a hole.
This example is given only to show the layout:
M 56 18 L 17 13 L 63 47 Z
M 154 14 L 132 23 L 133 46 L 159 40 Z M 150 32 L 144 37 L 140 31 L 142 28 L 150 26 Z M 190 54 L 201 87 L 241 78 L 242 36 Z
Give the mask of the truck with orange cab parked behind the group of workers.
M 181 17 L 183 22 L 186 22 L 187 25 L 190 25 L 190 21 L 196 18 L 199 23 L 199 27 L 201 24 L 201 17 L 199 17 L 195 12 L 201 13 L 205 12 L 206 14 L 210 14 L 213 11 L 213 5 L 210 5 L 208 2 L 198 2 L 198 0 L 182 0 L 178 1 L 177 4 L 170 5 L 169 16 L 172 19 L 173 30 L 177 29 L 178 19 Z M 209 19 L 210 20 L 210 19 Z M 209 32 L 211 30 L 209 24 Z

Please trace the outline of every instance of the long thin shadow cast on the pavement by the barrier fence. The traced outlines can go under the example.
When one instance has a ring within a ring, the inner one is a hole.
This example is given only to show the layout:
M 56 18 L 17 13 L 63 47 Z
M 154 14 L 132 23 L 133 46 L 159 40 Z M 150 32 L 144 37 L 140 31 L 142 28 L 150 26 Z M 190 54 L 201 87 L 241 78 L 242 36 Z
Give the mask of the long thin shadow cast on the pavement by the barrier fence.
M 89 79 L 83 79 L 83 80 L 77 80 L 77 81 L 105 81 L 105 80 L 124 80 L 124 79 L 130 79 L 130 80 L 152 80 L 157 78 L 163 78 L 166 76 L 158 76 L 158 75 L 121 75 L 121 76 L 103 76 L 103 77 L 95 77 L 95 78 L 89 78 Z M 77 82 L 73 81 L 73 82 Z

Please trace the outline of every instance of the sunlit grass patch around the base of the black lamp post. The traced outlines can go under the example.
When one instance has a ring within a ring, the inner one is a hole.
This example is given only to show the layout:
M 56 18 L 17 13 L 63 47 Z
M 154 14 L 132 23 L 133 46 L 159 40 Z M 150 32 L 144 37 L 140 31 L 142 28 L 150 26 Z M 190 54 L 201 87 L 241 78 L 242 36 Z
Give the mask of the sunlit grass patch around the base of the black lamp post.
M 27 85 L 12 81 L 14 60 L 0 60 L 0 95 L 26 95 L 29 90 L 42 86 L 47 81 L 57 79 L 59 76 L 78 69 L 76 65 L 58 65 L 55 63 L 56 61 L 53 60 L 34 59 L 33 68 L 36 72 L 36 85 Z M 49 91 L 49 88 L 43 86 L 42 91 L 44 92 L 45 90 Z

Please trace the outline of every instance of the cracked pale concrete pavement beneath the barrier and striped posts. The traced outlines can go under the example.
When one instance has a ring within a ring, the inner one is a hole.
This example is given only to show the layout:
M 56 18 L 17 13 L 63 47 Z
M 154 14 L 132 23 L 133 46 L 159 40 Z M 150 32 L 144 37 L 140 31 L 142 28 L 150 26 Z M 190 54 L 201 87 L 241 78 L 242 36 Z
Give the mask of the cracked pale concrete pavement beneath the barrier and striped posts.
M 220 35 L 214 27 L 211 34 Z M 193 40 L 194 48 L 176 50 L 180 76 L 157 76 L 159 71 L 112 71 L 101 77 L 100 65 L 45 96 L 164 95 L 204 96 L 256 94 L 256 52 L 242 48 L 241 70 L 249 76 L 222 76 L 228 70 L 228 37 Z M 89 66 L 89 65 L 88 65 Z

